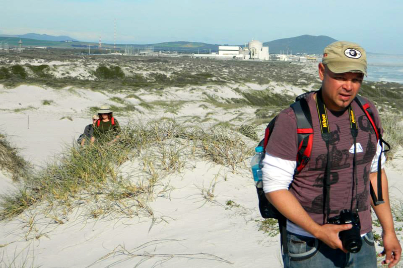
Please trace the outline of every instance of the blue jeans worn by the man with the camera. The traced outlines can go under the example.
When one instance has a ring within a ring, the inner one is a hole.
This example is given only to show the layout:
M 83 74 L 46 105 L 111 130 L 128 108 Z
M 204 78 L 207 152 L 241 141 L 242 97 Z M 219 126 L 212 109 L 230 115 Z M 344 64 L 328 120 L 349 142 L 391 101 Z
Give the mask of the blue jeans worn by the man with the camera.
M 361 250 L 344 253 L 322 241 L 287 232 L 288 253 L 283 254 L 285 268 L 365 267 L 376 268 L 376 251 L 372 232 L 362 239 Z

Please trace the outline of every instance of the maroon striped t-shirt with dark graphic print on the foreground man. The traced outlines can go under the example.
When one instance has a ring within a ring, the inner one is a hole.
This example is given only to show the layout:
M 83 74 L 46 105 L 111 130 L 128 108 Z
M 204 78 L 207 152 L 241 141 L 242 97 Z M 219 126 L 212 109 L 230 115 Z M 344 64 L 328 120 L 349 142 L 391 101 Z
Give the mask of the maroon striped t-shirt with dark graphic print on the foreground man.
M 307 97 L 312 115 L 314 131 L 311 158 L 302 171 L 294 175 L 289 191 L 297 198 L 309 216 L 318 224 L 324 224 L 323 216 L 323 176 L 327 162 L 327 148 L 321 137 L 319 118 L 313 94 Z M 380 127 L 379 115 L 371 102 L 375 124 Z M 343 209 L 350 209 L 353 199 L 353 211 L 358 208 L 361 221 L 361 233 L 371 231 L 370 182 L 371 162 L 376 154 L 377 140 L 368 118 L 353 101 L 351 107 L 358 123 L 356 172 L 358 186 L 353 193 L 353 136 L 350 130 L 348 110 L 331 112 L 326 109 L 331 139 L 329 142 L 330 161 L 330 215 L 337 216 Z M 284 160 L 296 161 L 297 123 L 291 108 L 283 110 L 277 120 L 267 143 L 266 152 Z

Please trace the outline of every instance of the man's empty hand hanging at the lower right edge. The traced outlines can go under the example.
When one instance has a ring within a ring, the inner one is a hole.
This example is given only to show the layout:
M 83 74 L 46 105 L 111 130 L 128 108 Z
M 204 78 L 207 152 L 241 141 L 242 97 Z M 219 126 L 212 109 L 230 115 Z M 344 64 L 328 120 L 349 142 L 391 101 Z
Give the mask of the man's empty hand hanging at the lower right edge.
M 393 233 L 383 233 L 383 251 L 378 254 L 378 256 L 385 256 L 382 264 L 388 264 L 388 267 L 393 267 L 400 260 L 401 246 L 397 240 L 396 234 Z

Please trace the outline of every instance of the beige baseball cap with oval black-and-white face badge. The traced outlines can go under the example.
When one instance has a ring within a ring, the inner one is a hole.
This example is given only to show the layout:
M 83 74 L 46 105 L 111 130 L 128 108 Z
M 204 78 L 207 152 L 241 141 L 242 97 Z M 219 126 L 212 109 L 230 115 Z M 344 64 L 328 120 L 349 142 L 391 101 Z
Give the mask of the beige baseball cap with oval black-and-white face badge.
M 362 72 L 367 75 L 367 54 L 355 43 L 331 43 L 323 50 L 322 63 L 334 73 Z

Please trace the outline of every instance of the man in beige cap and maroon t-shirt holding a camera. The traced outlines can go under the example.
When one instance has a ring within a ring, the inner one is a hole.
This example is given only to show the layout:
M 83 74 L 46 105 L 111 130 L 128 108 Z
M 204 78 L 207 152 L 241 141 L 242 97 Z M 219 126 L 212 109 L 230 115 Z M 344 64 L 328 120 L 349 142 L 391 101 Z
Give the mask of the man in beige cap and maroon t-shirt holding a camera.
M 324 49 L 318 67 L 322 86 L 306 97 L 314 133 L 308 164 L 294 174 L 298 145 L 291 108 L 279 114 L 263 160 L 263 190 L 287 218 L 284 266 L 376 267 L 372 206 L 383 230 L 383 263 L 392 267 L 399 261 L 401 247 L 383 168 L 384 203 L 374 206 L 370 196 L 370 182 L 377 193 L 378 157 L 382 155 L 382 165 L 385 158 L 368 117 L 353 101 L 366 75 L 366 53 L 357 44 L 334 42 Z M 381 129 L 376 108 L 369 105 Z M 337 220 L 346 215 L 353 221 L 340 224 Z M 344 247 L 339 233 L 350 229 L 357 231 L 362 245 Z

